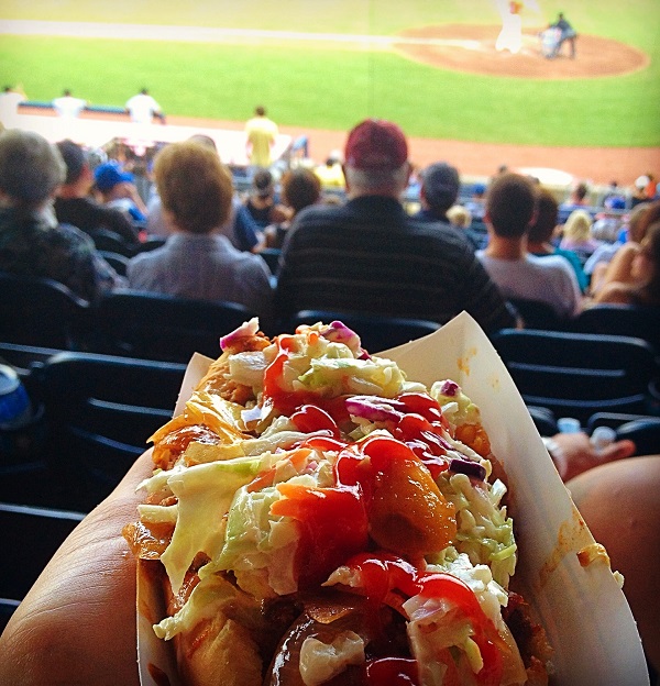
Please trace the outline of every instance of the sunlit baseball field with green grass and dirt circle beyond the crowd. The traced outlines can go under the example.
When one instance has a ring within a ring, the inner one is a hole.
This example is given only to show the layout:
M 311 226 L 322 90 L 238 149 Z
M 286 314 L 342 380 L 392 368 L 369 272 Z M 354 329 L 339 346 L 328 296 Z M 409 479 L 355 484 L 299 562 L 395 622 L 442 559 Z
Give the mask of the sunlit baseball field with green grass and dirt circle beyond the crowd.
M 560 11 L 576 57 L 543 59 Z M 638 148 L 660 167 L 660 3 L 528 0 L 520 15 L 510 54 L 495 0 L 4 0 L 0 73 L 33 100 L 122 106 L 147 86 L 175 117 L 244 121 L 263 103 L 283 126 L 383 117 L 421 139 Z

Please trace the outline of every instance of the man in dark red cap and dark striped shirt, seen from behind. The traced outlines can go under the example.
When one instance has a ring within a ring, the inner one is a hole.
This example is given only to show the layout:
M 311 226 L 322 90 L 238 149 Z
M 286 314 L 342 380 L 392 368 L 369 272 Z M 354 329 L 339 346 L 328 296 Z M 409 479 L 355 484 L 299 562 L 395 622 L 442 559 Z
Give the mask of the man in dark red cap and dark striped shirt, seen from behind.
M 444 323 L 466 310 L 486 331 L 515 325 L 465 236 L 405 211 L 411 167 L 396 124 L 358 124 L 344 161 L 348 201 L 306 208 L 287 232 L 276 290 L 283 321 L 326 309 Z

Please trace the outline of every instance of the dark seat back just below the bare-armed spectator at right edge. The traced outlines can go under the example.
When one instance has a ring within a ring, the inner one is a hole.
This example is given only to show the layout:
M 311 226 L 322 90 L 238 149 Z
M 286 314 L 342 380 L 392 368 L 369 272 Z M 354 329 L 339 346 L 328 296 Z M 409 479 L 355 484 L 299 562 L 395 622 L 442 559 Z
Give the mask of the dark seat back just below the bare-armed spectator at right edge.
M 583 310 L 571 329 L 581 333 L 632 335 L 648 341 L 660 355 L 660 307 L 595 305 Z

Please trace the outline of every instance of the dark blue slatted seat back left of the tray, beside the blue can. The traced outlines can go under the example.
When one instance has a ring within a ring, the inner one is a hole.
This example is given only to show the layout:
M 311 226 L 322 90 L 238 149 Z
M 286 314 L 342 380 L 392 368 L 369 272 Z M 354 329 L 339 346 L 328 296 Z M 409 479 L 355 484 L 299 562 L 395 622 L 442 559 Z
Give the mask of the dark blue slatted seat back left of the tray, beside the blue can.
M 33 370 L 46 408 L 47 460 L 66 502 L 87 511 L 172 418 L 185 365 L 59 353 Z

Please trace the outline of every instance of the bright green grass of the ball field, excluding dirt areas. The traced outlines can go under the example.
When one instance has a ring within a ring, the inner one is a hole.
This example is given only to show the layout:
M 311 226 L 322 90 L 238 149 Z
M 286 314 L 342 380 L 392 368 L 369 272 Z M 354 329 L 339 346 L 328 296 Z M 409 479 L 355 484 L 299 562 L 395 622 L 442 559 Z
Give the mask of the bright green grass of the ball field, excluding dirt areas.
M 147 85 L 164 110 L 178 115 L 241 121 L 262 102 L 280 124 L 298 126 L 346 130 L 374 115 L 402 123 L 409 135 L 431 139 L 660 145 L 660 3 L 636 0 L 624 11 L 618 0 L 603 0 L 595 11 L 586 2 L 568 8 L 539 1 L 544 14 L 539 20 L 565 9 L 579 31 L 635 45 L 651 56 L 650 66 L 623 77 L 543 81 L 464 75 L 392 53 L 331 51 L 312 44 L 238 47 L 3 35 L 0 74 L 6 82 L 22 84 L 36 100 L 50 100 L 67 87 L 91 102 L 121 106 Z M 446 22 L 497 23 L 487 0 L 170 4 L 117 0 L 111 8 L 98 1 L 81 8 L 73 0 L 4 0 L 0 16 L 373 35 Z M 531 19 L 528 14 L 527 21 Z

